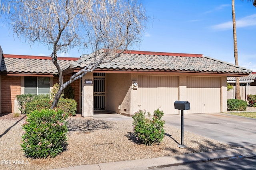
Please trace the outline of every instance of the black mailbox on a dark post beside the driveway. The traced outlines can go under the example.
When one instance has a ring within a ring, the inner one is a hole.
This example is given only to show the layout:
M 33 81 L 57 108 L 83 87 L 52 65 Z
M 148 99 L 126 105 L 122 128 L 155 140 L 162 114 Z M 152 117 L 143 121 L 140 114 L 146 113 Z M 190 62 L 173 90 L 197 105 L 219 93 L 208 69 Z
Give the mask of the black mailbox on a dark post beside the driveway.
M 181 144 L 178 145 L 179 148 L 186 148 L 187 146 L 183 144 L 183 138 L 184 138 L 184 123 L 183 123 L 183 117 L 184 117 L 184 110 L 190 110 L 190 103 L 188 101 L 175 101 L 174 102 L 174 109 L 181 110 Z

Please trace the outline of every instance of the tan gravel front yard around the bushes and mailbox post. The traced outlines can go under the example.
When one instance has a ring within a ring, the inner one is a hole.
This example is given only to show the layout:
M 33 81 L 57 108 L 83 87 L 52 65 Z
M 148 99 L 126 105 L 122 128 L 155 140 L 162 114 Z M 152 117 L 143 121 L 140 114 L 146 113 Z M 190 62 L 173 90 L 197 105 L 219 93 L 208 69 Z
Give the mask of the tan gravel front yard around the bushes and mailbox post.
M 55 158 L 27 158 L 20 150 L 22 123 L 26 117 L 13 114 L 0 115 L 0 169 L 54 169 L 82 164 L 116 162 L 121 160 L 147 159 L 193 152 L 207 152 L 234 148 L 228 144 L 184 132 L 187 148 L 178 148 L 180 129 L 164 126 L 166 135 L 161 144 L 144 146 L 137 144 L 132 131 L 132 120 L 101 121 L 68 118 L 68 147 Z

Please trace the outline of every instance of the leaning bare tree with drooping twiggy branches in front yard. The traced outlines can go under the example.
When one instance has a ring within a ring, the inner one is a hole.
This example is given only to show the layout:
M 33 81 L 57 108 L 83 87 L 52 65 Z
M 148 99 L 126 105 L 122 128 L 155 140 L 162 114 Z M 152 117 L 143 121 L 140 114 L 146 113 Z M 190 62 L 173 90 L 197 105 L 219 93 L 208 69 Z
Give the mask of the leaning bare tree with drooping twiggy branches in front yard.
M 137 0 L 6 0 L 3 4 L 18 37 L 24 37 L 28 43 L 48 45 L 52 50 L 50 56 L 60 82 L 52 108 L 73 81 L 140 42 L 147 20 Z M 57 52 L 66 53 L 73 47 L 92 49 L 94 57 L 63 83 Z

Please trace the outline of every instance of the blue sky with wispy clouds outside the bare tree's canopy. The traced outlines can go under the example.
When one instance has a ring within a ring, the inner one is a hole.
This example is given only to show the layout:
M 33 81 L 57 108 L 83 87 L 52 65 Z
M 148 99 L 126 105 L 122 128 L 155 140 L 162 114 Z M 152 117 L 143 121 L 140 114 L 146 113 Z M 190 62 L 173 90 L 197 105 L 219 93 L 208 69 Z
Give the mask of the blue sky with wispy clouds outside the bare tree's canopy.
M 204 54 L 234 63 L 231 0 L 144 0 L 147 30 L 132 50 Z M 244 0 L 235 1 L 238 63 L 256 71 L 256 8 Z M 52 52 L 47 46 L 30 45 L 19 40 L 1 23 L 0 45 L 5 54 L 43 55 Z M 59 54 L 80 57 L 90 49 Z

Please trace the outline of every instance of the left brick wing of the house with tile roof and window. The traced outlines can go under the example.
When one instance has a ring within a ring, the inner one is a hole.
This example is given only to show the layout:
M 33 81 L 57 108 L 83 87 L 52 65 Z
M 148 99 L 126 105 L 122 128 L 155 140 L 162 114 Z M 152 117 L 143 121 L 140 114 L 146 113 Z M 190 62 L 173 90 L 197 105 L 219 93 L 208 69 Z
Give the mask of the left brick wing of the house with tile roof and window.
M 79 58 L 58 57 L 61 67 L 77 59 Z M 3 54 L 0 61 L 1 113 L 18 113 L 16 95 L 50 94 L 54 83 L 59 82 L 58 71 L 51 57 Z M 65 75 L 64 81 L 70 75 Z M 79 112 L 80 82 L 75 81 L 71 86 L 75 90 Z

